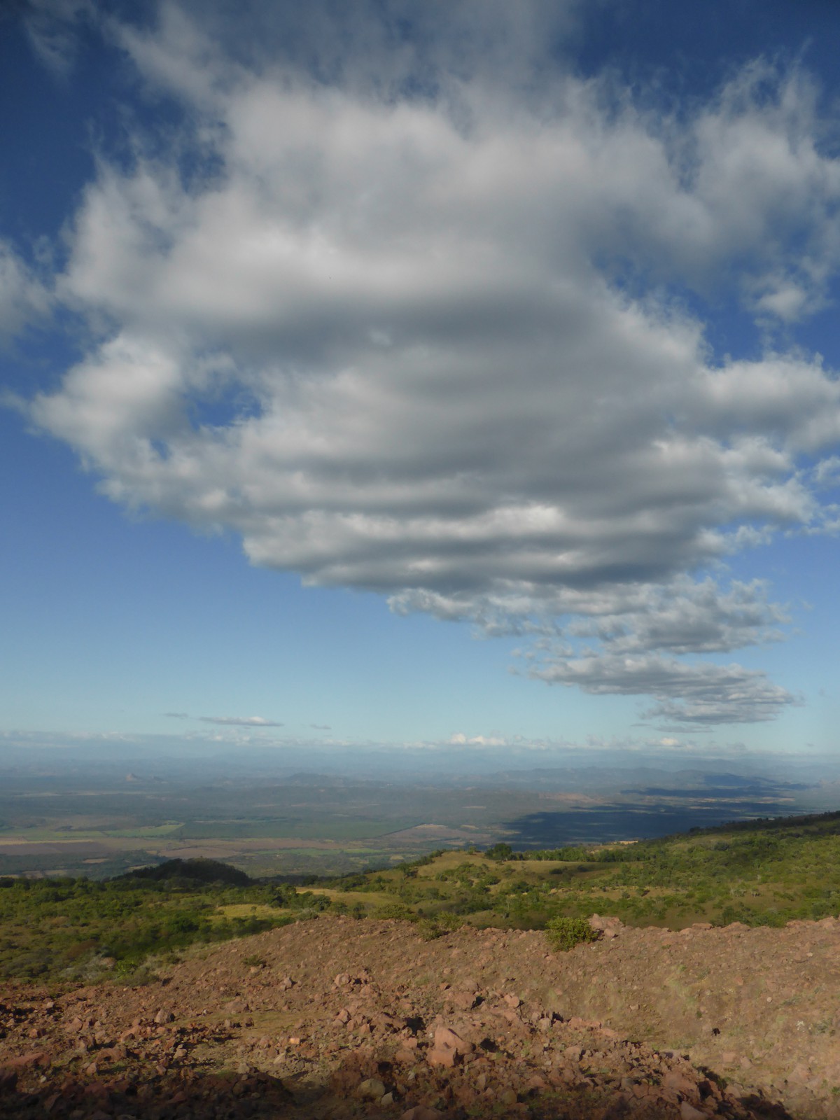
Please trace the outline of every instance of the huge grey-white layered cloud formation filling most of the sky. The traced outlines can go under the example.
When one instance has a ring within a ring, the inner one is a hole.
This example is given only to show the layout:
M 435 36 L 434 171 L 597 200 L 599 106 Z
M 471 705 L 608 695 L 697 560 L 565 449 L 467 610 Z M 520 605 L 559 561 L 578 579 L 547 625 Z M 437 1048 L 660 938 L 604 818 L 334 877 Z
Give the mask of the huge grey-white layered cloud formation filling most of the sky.
M 312 7 L 284 53 L 172 3 L 110 26 L 180 124 L 102 153 L 55 286 L 90 349 L 31 417 L 254 563 L 532 634 L 534 676 L 670 722 L 773 718 L 793 698 L 713 655 L 786 622 L 720 562 L 837 517 L 840 385 L 769 342 L 840 255 L 812 87 L 755 63 L 656 112 L 541 55 L 548 6 L 399 44 L 398 7 Z M 762 356 L 711 353 L 712 295 Z

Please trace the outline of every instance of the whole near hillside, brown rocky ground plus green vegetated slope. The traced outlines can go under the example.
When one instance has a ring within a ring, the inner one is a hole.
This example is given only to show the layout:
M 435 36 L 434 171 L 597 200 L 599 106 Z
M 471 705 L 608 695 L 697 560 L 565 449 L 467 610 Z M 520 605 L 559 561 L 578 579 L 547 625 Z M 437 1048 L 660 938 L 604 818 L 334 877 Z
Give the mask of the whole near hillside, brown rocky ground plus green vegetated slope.
M 839 833 L 0 880 L 0 1116 L 840 1120 Z

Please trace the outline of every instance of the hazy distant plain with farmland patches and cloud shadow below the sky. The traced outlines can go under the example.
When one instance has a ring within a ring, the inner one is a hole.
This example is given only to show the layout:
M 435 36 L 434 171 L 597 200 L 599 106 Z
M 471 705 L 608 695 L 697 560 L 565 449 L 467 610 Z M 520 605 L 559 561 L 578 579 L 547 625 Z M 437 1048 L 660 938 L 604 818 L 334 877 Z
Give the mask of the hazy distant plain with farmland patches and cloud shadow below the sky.
M 317 773 L 295 768 L 311 757 L 278 752 L 80 758 L 0 748 L 0 875 L 106 878 L 194 857 L 254 876 L 339 875 L 437 849 L 644 839 L 840 801 L 824 765 L 801 781 L 732 763 L 643 766 L 618 753 L 597 767 L 566 759 L 529 771 L 511 768 L 504 755 L 492 760 L 505 768 L 470 759 L 461 773 L 441 757 L 430 778 L 424 757 L 421 777 L 404 754 L 324 755 L 315 762 L 326 773 Z

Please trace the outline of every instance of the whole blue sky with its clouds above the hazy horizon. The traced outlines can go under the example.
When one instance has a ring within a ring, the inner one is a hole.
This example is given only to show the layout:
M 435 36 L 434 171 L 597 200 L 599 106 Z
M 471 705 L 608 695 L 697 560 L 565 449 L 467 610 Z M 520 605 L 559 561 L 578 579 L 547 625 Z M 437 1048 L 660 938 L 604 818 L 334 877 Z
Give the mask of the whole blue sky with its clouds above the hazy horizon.
M 839 35 L 4 4 L 0 737 L 833 752 Z

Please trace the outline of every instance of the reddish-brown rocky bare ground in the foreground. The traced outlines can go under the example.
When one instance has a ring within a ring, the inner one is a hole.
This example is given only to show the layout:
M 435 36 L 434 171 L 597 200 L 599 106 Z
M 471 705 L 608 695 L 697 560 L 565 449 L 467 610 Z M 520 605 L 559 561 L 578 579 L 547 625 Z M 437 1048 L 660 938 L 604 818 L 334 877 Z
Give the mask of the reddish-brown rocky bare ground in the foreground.
M 542 933 L 320 917 L 141 987 L 0 989 L 0 1116 L 840 1120 L 840 922 Z

